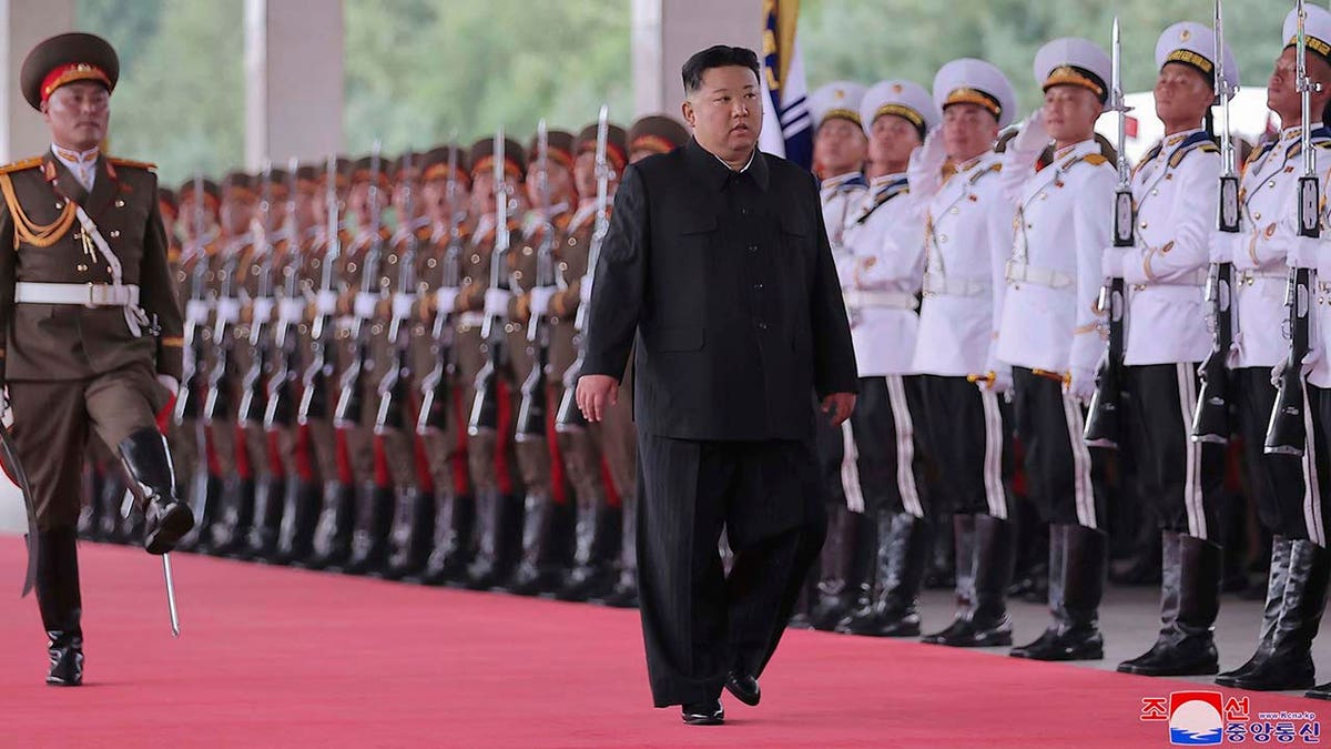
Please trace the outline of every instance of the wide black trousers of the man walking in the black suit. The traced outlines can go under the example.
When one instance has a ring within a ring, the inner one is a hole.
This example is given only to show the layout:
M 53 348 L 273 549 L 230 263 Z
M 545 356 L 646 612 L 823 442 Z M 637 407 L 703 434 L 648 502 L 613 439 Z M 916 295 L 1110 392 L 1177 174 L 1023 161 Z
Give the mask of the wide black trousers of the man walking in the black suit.
M 638 584 L 652 701 L 713 700 L 759 674 L 827 533 L 812 444 L 640 433 Z M 721 568 L 725 530 L 735 564 Z

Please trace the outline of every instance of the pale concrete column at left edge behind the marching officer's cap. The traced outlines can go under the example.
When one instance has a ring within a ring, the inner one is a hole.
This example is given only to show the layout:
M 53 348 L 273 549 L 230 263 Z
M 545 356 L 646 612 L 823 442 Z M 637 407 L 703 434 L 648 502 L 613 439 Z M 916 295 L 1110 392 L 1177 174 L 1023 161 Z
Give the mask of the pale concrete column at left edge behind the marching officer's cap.
M 0 164 L 36 156 L 51 145 L 51 132 L 41 116 L 19 91 L 23 59 L 43 39 L 73 31 L 75 0 L 0 0 Z

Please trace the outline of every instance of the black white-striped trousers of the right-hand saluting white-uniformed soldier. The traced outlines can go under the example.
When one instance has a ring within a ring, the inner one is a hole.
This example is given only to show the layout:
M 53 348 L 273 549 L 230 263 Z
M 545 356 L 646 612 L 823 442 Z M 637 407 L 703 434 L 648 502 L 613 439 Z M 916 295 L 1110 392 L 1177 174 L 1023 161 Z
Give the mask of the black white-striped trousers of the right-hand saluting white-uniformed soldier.
M 1107 530 L 1105 454 L 1082 440 L 1086 406 L 1066 397 L 1059 380 L 1024 367 L 1013 367 L 1012 380 L 1026 481 L 1041 520 Z

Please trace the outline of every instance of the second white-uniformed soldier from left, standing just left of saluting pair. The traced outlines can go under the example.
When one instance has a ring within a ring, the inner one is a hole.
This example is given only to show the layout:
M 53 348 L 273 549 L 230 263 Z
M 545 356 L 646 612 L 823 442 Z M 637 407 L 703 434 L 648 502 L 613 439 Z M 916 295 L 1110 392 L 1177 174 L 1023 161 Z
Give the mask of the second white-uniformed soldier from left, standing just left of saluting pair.
M 910 81 L 880 81 L 860 101 L 869 139 L 869 191 L 845 228 L 843 271 L 849 277 L 841 277 L 860 398 L 841 425 L 841 476 L 847 508 L 868 518 L 870 542 L 857 552 L 872 562 L 855 610 L 837 622 L 839 632 L 920 633 L 914 609 L 922 556 L 904 554 L 916 550 L 906 541 L 920 536 L 928 512 L 916 449 L 920 382 L 910 363 L 924 281 L 924 205 L 910 195 L 906 165 L 940 117 L 929 92 Z

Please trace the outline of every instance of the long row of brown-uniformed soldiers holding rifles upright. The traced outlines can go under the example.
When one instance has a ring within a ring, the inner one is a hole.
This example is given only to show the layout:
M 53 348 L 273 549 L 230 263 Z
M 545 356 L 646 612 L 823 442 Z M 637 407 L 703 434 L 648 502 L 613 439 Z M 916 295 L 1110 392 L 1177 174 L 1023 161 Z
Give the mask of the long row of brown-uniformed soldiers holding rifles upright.
M 180 548 L 636 605 L 630 406 L 596 425 L 556 425 L 555 406 L 598 205 L 688 133 L 664 116 L 604 129 L 600 149 L 598 124 L 542 127 L 527 148 L 486 137 L 162 191 L 186 372 L 161 422 L 198 518 Z M 80 529 L 137 538 L 100 457 Z

